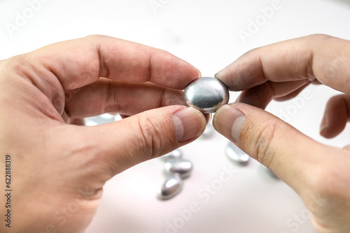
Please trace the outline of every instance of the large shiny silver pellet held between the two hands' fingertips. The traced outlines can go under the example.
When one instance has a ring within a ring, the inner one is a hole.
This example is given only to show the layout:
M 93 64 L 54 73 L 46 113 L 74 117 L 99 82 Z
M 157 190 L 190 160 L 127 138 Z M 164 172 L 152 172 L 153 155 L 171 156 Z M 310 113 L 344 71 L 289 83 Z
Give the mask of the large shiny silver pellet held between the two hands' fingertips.
M 228 103 L 228 87 L 214 77 L 201 77 L 186 87 L 184 91 L 186 105 L 195 107 L 204 113 L 216 112 Z

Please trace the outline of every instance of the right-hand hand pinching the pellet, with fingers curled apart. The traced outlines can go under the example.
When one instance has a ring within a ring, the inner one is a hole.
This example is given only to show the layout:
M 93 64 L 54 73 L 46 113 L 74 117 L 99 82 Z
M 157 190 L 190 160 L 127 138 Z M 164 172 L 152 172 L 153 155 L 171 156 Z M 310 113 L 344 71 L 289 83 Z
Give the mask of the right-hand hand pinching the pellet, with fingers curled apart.
M 321 123 L 321 135 L 335 137 L 350 119 L 349 56 L 347 40 L 307 36 L 252 50 L 216 75 L 242 92 L 214 127 L 300 195 L 319 233 L 350 232 L 350 146 L 315 142 L 262 109 L 321 82 L 345 93 L 329 100 Z

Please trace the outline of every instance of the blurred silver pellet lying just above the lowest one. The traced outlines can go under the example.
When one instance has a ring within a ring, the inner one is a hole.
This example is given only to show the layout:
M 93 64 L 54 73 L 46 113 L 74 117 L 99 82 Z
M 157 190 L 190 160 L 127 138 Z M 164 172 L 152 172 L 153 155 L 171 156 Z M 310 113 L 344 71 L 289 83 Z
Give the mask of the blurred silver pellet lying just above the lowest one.
M 188 160 L 175 159 L 167 161 L 164 168 L 167 174 L 179 174 L 181 178 L 187 178 L 192 172 L 193 164 Z

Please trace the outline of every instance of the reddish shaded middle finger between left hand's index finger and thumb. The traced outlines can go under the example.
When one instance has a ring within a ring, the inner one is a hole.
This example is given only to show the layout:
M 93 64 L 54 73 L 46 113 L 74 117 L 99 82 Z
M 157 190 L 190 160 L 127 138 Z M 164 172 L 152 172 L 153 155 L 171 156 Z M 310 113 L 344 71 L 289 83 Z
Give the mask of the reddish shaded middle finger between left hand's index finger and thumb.
M 130 83 L 100 78 L 80 89 L 66 91 L 65 110 L 70 117 L 93 117 L 106 112 L 131 116 L 157 107 L 185 104 L 180 90 L 151 82 Z

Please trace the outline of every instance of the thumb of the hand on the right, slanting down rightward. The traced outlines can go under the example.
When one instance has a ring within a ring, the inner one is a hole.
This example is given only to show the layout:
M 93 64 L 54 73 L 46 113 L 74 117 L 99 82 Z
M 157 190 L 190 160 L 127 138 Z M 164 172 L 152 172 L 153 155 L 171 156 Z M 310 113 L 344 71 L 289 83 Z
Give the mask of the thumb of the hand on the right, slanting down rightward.
M 221 107 L 214 128 L 258 160 L 297 192 L 307 172 L 325 154 L 323 144 L 311 140 L 274 115 L 258 107 L 234 103 Z

